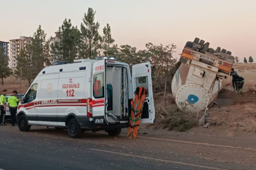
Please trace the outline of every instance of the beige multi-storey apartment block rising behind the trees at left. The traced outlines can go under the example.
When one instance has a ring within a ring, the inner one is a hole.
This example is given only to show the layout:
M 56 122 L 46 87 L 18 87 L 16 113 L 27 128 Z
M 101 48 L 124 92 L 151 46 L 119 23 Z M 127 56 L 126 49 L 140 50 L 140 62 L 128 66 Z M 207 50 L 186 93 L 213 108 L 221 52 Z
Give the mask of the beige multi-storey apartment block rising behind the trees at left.
M 10 41 L 10 48 L 11 54 L 9 55 L 9 67 L 16 68 L 17 67 L 17 60 L 16 58 L 20 56 L 20 50 L 24 49 L 27 43 L 32 42 L 31 37 L 20 37 L 18 39 L 9 40 Z

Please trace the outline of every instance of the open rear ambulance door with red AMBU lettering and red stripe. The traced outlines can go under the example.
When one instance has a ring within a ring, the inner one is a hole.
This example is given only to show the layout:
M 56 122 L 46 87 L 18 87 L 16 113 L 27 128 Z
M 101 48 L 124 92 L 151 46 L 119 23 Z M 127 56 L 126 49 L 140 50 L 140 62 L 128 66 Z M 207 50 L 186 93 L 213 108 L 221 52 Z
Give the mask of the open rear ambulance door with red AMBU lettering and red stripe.
M 106 120 L 106 62 L 99 60 L 92 67 L 92 116 Z M 107 121 L 107 120 L 106 120 Z

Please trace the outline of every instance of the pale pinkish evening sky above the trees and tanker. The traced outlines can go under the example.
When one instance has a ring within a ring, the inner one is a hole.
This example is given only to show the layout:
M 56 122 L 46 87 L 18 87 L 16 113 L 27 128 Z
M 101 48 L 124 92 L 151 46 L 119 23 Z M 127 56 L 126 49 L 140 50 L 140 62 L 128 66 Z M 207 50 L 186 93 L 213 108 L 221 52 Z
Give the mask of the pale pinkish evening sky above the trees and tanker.
M 30 37 L 39 25 L 49 38 L 65 18 L 80 28 L 93 8 L 100 33 L 109 23 L 118 45 L 143 50 L 149 42 L 174 43 L 179 58 L 185 43 L 198 37 L 256 62 L 255 7 L 255 0 L 0 0 L 0 40 Z

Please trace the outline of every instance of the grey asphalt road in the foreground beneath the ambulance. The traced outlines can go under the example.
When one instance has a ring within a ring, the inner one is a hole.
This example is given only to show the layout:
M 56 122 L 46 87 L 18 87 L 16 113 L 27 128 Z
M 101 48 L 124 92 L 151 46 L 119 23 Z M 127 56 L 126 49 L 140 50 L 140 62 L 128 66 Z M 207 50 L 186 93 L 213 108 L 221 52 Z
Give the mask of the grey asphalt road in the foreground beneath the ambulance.
M 66 130 L 0 127 L 0 169 L 256 169 L 255 139 L 141 130 L 130 140 Z M 146 132 L 146 133 L 145 133 Z

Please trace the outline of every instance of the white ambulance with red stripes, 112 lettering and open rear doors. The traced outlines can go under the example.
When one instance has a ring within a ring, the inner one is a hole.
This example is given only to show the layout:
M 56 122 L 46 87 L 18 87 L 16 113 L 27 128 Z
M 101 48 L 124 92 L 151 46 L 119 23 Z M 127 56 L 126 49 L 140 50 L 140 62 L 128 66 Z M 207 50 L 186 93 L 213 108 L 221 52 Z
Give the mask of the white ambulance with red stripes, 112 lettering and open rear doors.
M 46 67 L 18 105 L 18 127 L 23 132 L 31 125 L 67 128 L 73 138 L 85 130 L 119 135 L 128 127 L 137 87 L 148 89 L 141 122 L 153 123 L 150 62 L 133 65 L 132 76 L 129 65 L 113 57 Z

